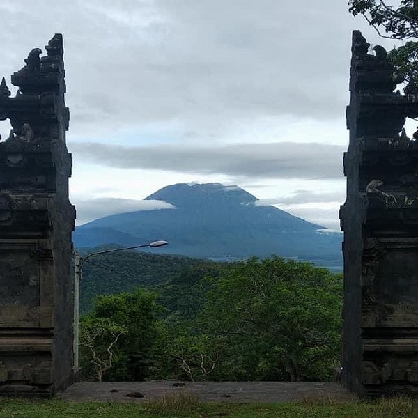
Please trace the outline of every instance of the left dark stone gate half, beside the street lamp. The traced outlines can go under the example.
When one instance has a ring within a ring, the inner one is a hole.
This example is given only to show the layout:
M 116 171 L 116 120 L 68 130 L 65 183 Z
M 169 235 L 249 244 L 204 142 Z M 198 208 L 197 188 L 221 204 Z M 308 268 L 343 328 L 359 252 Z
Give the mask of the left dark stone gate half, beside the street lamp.
M 72 379 L 72 160 L 63 40 L 0 84 L 0 395 L 51 396 Z

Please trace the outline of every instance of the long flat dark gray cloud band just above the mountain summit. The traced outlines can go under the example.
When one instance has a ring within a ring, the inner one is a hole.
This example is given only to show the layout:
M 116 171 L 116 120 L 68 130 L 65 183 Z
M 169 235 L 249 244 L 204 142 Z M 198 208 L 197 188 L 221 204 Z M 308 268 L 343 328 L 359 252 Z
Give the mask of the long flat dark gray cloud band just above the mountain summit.
M 218 146 L 112 146 L 71 144 L 77 159 L 121 169 L 225 174 L 249 178 L 342 178 L 345 147 L 327 144 L 235 144 Z M 239 183 L 239 182 L 237 182 Z

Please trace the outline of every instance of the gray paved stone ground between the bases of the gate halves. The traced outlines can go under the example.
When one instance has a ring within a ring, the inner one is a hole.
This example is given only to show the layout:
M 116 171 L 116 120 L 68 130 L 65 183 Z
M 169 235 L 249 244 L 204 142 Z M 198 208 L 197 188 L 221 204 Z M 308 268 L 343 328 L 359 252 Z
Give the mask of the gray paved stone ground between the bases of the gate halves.
M 303 399 L 355 401 L 336 382 L 76 382 L 61 394 L 69 401 L 144 402 L 187 391 L 207 402 L 289 402 Z M 130 395 L 130 396 L 129 396 Z

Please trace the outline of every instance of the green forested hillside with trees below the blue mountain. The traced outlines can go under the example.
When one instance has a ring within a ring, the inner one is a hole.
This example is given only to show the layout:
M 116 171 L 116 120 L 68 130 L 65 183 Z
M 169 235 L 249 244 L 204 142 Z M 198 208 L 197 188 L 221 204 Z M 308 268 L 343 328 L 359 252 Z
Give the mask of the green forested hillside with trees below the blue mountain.
M 277 257 L 160 257 L 140 256 L 142 288 L 116 293 L 126 283 L 115 276 L 107 293 L 116 294 L 98 297 L 82 318 L 89 378 L 324 380 L 339 365 L 341 274 Z M 160 261 L 171 263 L 169 274 Z M 111 268 L 120 262 L 114 258 Z

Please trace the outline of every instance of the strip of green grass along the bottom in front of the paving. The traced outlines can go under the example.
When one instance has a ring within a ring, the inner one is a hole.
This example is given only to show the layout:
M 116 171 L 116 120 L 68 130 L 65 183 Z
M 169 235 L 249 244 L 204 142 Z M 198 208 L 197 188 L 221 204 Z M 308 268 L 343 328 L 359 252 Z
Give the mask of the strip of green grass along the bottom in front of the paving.
M 337 402 L 307 398 L 294 403 L 206 403 L 183 392 L 138 403 L 27 401 L 0 398 L 0 418 L 418 418 L 418 401 Z M 160 409 L 159 409 L 160 408 Z

